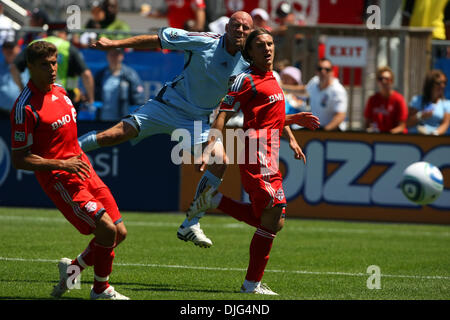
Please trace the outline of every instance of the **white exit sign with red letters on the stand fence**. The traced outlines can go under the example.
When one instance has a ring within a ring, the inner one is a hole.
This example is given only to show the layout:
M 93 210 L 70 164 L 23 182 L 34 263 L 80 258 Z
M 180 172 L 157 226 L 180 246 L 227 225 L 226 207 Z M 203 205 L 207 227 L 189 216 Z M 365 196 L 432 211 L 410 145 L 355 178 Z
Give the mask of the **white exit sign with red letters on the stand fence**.
M 367 47 L 366 38 L 327 37 L 325 57 L 337 66 L 364 67 Z

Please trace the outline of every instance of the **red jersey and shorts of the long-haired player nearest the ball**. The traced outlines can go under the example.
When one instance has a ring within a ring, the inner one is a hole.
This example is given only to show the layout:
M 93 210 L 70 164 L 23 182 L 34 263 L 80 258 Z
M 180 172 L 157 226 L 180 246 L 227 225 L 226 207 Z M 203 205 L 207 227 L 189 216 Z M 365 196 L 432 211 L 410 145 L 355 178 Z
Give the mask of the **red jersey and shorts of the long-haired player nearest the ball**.
M 220 111 L 240 110 L 244 114 L 245 136 L 249 137 L 245 140 L 245 158 L 238 159 L 241 181 L 260 215 L 269 203 L 286 203 L 278 165 L 285 100 L 271 71 L 250 67 L 236 77 Z

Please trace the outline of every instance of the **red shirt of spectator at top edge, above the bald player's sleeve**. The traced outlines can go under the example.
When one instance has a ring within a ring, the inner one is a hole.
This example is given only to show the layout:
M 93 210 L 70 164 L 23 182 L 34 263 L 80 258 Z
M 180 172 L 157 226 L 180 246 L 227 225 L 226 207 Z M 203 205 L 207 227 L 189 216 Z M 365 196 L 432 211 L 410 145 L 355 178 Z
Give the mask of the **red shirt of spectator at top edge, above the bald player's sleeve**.
M 205 9 L 204 0 L 166 0 L 167 19 L 172 28 L 184 29 L 188 20 L 195 20 L 195 11 Z

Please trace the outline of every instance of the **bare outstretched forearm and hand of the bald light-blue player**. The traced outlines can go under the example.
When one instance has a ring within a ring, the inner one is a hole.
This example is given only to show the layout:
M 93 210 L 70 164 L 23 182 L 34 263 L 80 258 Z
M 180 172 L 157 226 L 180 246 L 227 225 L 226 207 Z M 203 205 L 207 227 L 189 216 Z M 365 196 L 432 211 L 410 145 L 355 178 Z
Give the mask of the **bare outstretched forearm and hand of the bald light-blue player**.
M 158 35 L 139 35 L 131 38 L 111 40 L 101 37 L 91 45 L 91 48 L 108 50 L 114 48 L 134 48 L 134 49 L 161 49 L 161 42 Z

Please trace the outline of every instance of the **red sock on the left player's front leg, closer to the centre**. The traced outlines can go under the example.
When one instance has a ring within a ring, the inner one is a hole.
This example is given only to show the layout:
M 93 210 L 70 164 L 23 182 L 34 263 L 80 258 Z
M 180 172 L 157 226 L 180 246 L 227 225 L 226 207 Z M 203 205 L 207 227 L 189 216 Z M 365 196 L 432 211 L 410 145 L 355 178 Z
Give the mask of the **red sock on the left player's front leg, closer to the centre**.
M 104 247 L 94 243 L 94 292 L 101 293 L 109 287 L 109 275 L 112 272 L 114 247 Z

